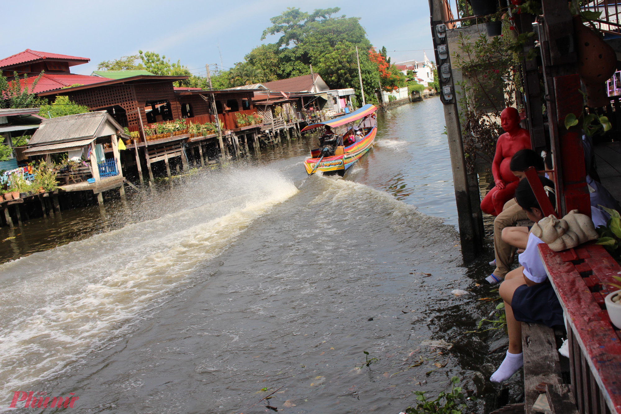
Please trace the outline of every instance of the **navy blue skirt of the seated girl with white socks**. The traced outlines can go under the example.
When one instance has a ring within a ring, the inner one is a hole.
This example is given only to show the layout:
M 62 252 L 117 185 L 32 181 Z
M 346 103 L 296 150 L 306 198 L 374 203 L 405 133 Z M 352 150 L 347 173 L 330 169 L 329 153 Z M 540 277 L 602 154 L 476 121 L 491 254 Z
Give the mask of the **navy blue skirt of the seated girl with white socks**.
M 547 279 L 540 285 L 522 285 L 515 289 L 511 308 L 516 321 L 543 323 L 550 328 L 565 324 L 563 308 Z

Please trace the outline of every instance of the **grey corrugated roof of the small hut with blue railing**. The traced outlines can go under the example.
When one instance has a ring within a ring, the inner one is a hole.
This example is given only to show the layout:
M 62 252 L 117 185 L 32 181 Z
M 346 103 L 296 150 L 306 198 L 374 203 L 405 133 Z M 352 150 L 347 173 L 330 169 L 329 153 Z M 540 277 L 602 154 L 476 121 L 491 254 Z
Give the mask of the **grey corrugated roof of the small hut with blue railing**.
M 111 122 L 117 130 L 123 131 L 106 111 L 96 111 L 45 119 L 28 144 L 36 146 L 96 138 L 106 121 Z

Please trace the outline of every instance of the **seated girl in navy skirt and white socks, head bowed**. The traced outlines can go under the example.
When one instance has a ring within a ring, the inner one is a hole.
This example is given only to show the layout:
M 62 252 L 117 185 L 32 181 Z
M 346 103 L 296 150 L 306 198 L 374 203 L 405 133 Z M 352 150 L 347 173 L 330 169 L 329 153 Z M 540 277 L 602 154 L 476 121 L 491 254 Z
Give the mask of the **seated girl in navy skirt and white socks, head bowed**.
M 544 187 L 554 188 L 548 178 L 539 176 Z M 547 190 L 547 189 L 546 189 Z M 552 206 L 556 203 L 553 191 L 546 191 Z M 537 223 L 542 209 L 530 188 L 528 180 L 521 180 L 515 190 L 515 200 L 529 219 Z M 520 267 L 511 270 L 501 283 L 499 293 L 505 303 L 509 349 L 501 366 L 492 374 L 492 382 L 509 379 L 524 365 L 522 353 L 522 322 L 542 323 L 547 326 L 563 325 L 563 308 L 548 280 L 537 245 L 543 243 L 534 234 L 528 234 L 524 253 L 519 255 Z

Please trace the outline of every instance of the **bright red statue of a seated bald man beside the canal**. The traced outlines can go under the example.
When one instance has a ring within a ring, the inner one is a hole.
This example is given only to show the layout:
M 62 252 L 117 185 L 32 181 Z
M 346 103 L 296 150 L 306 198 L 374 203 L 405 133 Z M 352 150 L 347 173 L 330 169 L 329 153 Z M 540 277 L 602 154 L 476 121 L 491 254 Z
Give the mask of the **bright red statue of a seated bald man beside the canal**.
M 522 149 L 530 148 L 530 133 L 520 127 L 520 114 L 515 108 L 505 108 L 501 113 L 501 126 L 505 133 L 498 137 L 496 155 L 492 162 L 492 174 L 496 186 L 489 190 L 481 201 L 483 213 L 497 216 L 502 213 L 502 207 L 515 195 L 515 188 L 519 178 L 511 172 L 509 164 L 511 157 Z

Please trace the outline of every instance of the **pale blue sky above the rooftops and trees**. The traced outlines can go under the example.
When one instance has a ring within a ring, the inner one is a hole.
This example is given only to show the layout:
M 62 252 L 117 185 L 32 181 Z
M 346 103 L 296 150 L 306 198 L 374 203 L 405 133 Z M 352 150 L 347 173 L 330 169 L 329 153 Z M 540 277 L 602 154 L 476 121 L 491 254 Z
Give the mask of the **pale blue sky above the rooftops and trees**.
M 384 7 L 386 6 L 386 7 Z M 433 60 L 427 0 L 338 1 L 34 1 L 24 7 L 7 2 L 0 36 L 0 58 L 26 48 L 91 58 L 72 68 L 89 75 L 102 60 L 137 54 L 138 49 L 181 60 L 203 75 L 205 63 L 224 67 L 240 62 L 261 42 L 270 17 L 287 7 L 302 11 L 341 7 L 338 15 L 361 17 L 371 43 L 386 46 L 392 62 L 422 60 L 422 49 Z

